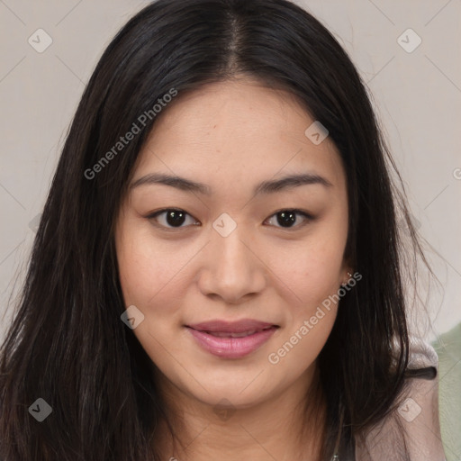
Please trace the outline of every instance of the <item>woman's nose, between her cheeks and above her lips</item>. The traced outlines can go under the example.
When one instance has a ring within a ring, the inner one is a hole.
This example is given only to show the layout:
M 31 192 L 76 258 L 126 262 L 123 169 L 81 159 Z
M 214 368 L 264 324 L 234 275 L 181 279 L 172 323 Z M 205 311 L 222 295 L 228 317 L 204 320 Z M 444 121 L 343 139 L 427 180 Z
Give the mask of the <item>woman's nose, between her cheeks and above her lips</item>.
M 264 257 L 243 226 L 223 237 L 212 230 L 211 241 L 202 252 L 198 285 L 206 296 L 220 297 L 230 304 L 260 293 L 267 284 Z

